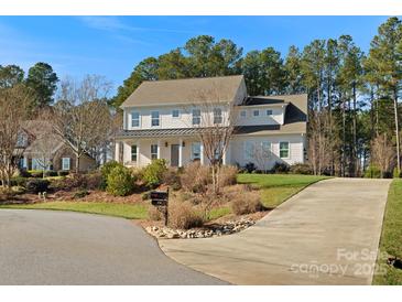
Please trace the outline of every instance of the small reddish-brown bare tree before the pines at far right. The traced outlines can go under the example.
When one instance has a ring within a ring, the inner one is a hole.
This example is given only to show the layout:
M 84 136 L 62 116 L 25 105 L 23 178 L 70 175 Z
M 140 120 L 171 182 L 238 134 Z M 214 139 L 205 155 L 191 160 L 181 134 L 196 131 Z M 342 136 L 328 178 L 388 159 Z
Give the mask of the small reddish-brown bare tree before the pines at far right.
M 377 136 L 371 143 L 371 162 L 380 169 L 381 175 L 391 172 L 394 160 L 395 151 L 387 133 Z

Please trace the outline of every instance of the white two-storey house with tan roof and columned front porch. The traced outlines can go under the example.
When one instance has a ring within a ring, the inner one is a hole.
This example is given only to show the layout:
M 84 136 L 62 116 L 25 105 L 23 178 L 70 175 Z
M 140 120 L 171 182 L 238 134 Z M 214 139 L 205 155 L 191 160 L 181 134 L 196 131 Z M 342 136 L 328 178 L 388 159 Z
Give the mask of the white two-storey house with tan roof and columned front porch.
M 215 90 L 208 100 L 215 107 L 202 112 L 207 99 L 202 91 L 208 90 Z M 275 162 L 305 162 L 307 95 L 250 97 L 241 75 L 144 82 L 121 108 L 123 127 L 115 155 L 128 166 L 143 166 L 153 159 L 165 159 L 172 166 L 194 160 L 205 164 L 197 138 L 202 117 L 225 122 L 229 110 L 236 116 L 236 130 L 224 164 L 253 162 L 268 170 Z

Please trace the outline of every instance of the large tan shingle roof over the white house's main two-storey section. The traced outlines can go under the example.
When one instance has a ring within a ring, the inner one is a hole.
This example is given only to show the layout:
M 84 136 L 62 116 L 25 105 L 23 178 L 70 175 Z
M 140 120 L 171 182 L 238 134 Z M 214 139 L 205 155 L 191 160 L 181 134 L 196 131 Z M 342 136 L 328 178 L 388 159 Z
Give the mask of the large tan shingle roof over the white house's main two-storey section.
M 242 75 L 143 82 L 121 105 L 163 106 L 235 100 Z

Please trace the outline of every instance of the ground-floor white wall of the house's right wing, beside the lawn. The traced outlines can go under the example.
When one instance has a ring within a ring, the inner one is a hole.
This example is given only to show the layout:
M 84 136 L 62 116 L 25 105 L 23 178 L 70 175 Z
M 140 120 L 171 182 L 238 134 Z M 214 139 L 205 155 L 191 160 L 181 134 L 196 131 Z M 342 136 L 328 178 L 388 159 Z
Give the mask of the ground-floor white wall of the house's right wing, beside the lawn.
M 253 162 L 259 165 L 256 159 L 250 159 L 246 152 L 246 142 L 261 143 L 268 141 L 271 143 L 272 154 L 269 157 L 269 161 L 265 166 L 258 166 L 259 169 L 271 169 L 275 162 L 285 162 L 287 164 L 303 163 L 304 162 L 304 145 L 305 136 L 302 134 L 282 134 L 282 136 L 238 136 L 230 142 L 230 163 L 246 165 L 249 162 Z M 287 141 L 290 155 L 287 159 L 280 158 L 280 142 Z

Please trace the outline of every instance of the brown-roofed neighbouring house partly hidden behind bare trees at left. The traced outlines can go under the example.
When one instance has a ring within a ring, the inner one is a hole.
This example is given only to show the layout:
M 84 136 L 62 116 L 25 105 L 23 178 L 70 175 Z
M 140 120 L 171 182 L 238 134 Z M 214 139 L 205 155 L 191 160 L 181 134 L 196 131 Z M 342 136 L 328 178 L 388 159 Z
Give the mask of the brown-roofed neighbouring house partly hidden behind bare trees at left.
M 76 157 L 55 133 L 46 121 L 24 122 L 19 138 L 19 148 L 25 148 L 20 168 L 26 170 L 75 171 Z M 79 171 L 96 168 L 96 161 L 84 154 L 79 159 Z

